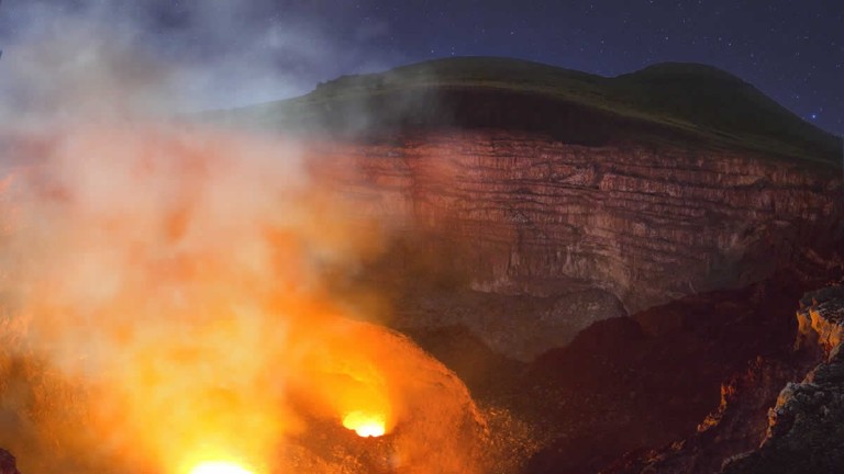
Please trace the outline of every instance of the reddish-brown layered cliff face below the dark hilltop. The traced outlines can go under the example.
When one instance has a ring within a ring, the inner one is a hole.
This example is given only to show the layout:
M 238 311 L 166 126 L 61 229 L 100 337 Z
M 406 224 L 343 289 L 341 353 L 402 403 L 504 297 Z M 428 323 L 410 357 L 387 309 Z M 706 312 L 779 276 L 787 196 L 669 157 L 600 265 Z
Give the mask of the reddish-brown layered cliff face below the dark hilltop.
M 495 311 L 451 321 L 522 357 L 551 346 L 531 343 L 531 353 L 481 326 L 521 341 L 551 331 L 558 346 L 598 319 L 785 267 L 835 264 L 844 237 L 840 176 L 753 153 L 491 129 L 315 154 L 323 178 L 363 214 L 400 217 L 400 235 L 425 236 L 407 251 L 477 292 L 537 298 L 536 317 L 518 325 L 488 320 Z

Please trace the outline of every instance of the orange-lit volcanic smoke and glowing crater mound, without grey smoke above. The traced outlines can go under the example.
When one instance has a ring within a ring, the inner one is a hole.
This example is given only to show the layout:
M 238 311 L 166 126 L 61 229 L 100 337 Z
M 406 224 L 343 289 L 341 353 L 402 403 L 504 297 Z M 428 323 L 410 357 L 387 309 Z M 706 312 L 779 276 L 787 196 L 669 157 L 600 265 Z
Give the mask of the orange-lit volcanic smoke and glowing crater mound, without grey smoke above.
M 129 122 L 19 142 L 0 447 L 23 473 L 481 470 L 464 385 L 329 290 L 387 236 L 296 144 Z

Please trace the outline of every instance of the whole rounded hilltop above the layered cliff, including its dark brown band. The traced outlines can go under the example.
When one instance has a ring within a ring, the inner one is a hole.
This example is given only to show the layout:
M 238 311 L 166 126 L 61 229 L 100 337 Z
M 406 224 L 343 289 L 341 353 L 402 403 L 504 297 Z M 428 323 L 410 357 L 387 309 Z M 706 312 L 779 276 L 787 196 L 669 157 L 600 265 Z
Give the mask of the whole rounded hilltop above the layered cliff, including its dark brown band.
M 693 142 L 841 168 L 841 139 L 720 69 L 658 64 L 604 78 L 518 59 L 437 59 L 343 76 L 300 98 L 212 114 L 262 127 L 389 135 L 503 127 L 600 145 Z

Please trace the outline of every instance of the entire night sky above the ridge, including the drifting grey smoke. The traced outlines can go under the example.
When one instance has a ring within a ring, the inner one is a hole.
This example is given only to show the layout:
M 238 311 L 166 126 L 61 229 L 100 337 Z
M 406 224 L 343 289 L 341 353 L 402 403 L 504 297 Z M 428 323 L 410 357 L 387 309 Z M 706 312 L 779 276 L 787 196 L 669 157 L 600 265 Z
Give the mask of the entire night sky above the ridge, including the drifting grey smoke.
M 67 18 L 131 31 L 146 54 L 202 70 L 197 87 L 209 108 L 447 56 L 509 56 L 602 76 L 671 60 L 731 71 L 844 134 L 842 0 L 8 0 L 0 82 L 16 47 Z

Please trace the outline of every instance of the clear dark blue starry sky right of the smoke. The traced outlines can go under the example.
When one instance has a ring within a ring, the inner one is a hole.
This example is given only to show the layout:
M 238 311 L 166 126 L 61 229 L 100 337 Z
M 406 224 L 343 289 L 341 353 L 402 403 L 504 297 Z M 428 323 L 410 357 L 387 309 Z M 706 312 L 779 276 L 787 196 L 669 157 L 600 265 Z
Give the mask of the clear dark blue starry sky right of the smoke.
M 337 24 L 354 30 L 384 22 L 389 26 L 385 49 L 408 60 L 512 56 L 603 76 L 666 60 L 706 63 L 738 75 L 821 127 L 844 134 L 842 0 L 355 4 L 359 8 L 348 20 L 335 20 Z

